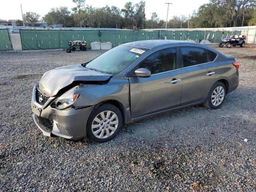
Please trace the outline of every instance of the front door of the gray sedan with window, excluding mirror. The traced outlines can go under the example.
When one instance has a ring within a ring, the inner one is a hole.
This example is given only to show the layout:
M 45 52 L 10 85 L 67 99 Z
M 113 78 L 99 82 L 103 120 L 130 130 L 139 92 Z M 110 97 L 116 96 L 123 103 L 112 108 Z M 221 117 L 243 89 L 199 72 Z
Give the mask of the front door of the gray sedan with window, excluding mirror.
M 166 48 L 152 53 L 138 68 L 151 71 L 148 78 L 130 77 L 132 118 L 180 106 L 182 72 L 178 67 L 177 49 Z

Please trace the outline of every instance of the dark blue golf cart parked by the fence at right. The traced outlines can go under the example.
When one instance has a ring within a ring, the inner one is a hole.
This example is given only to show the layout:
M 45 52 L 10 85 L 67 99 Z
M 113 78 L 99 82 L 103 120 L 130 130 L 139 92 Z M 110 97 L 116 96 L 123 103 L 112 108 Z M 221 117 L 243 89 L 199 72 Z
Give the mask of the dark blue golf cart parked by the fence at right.
M 232 35 L 230 38 L 223 38 L 219 44 L 219 47 L 226 45 L 226 48 L 231 46 L 235 47 L 240 45 L 240 47 L 245 46 L 246 35 Z

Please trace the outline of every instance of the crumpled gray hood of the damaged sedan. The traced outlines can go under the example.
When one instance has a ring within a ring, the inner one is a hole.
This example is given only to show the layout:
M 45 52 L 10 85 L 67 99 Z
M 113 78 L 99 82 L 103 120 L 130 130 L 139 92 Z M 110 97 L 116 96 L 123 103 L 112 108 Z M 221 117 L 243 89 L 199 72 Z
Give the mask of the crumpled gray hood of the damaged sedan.
M 89 70 L 80 64 L 64 66 L 44 73 L 39 81 L 39 89 L 52 97 L 74 81 L 107 81 L 110 77 L 111 74 Z

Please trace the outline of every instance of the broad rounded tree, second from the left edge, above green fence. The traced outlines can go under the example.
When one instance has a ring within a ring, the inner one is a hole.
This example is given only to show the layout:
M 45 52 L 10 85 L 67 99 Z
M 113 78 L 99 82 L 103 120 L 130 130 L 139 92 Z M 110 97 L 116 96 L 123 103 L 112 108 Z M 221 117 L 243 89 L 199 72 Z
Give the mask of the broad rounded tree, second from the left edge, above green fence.
M 64 27 L 74 26 L 74 20 L 67 7 L 52 8 L 48 14 L 43 17 L 48 26 L 52 24 L 62 24 Z

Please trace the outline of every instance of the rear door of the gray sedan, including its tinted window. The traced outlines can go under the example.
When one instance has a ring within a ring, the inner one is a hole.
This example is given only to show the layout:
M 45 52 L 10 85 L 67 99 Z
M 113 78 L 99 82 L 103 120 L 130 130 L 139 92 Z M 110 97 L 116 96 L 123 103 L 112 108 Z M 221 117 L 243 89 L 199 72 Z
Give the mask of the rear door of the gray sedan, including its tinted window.
M 211 88 L 216 67 L 209 63 L 206 49 L 180 47 L 182 55 L 182 96 L 181 105 L 199 102 Z

